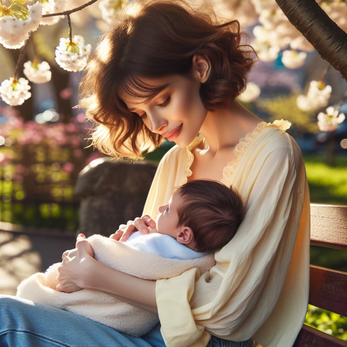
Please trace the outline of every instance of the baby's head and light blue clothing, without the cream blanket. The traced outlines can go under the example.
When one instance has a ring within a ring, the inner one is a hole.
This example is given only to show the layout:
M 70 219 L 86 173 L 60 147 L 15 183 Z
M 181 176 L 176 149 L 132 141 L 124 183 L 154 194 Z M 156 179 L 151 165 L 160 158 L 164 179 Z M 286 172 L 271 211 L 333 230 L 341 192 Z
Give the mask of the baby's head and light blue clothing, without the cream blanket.
M 243 215 L 242 199 L 233 187 L 194 180 L 179 187 L 169 202 L 159 207 L 156 228 L 150 234 L 137 231 L 126 242 L 166 258 L 193 259 L 226 245 Z

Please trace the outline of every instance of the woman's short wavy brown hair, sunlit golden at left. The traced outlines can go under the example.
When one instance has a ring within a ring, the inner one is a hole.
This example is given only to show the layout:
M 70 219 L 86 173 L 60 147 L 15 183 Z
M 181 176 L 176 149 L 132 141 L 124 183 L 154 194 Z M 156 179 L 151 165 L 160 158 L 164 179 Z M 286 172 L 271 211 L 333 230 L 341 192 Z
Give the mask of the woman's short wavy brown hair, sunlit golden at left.
M 79 106 L 94 123 L 92 143 L 117 159 L 141 159 L 164 140 L 127 109 L 119 91 L 155 95 L 158 88 L 141 78 L 185 75 L 193 56 L 203 55 L 210 59 L 211 73 L 200 96 L 214 111 L 245 89 L 254 63 L 253 49 L 241 44 L 237 20 L 219 23 L 212 9 L 192 8 L 181 0 L 133 2 L 137 13 L 124 12 L 102 37 L 80 84 Z

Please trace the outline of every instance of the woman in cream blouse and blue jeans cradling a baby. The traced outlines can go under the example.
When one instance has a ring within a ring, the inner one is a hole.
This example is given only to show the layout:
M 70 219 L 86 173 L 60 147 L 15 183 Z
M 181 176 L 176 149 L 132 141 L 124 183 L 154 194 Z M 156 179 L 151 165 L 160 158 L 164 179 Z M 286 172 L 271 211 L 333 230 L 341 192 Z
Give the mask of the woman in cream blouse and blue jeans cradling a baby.
M 113 237 L 148 232 L 155 206 L 199 178 L 232 183 L 246 203 L 245 219 L 203 276 L 191 269 L 156 282 L 133 278 L 97 262 L 83 236 L 64 253 L 60 290 L 103 290 L 159 313 L 161 327 L 142 339 L 10 298 L 1 317 L 10 320 L 11 304 L 25 318 L 8 324 L 25 338 L 60 338 L 63 346 L 247 346 L 250 339 L 291 346 L 307 307 L 309 194 L 299 148 L 285 133 L 290 124 L 262 122 L 235 101 L 253 65 L 236 21 L 218 24 L 211 12 L 176 1 L 135 10 L 100 42 L 81 84 L 81 106 L 96 124 L 94 145 L 106 154 L 138 159 L 164 138 L 177 146 L 159 164 L 144 216 Z M 38 315 L 42 326 L 30 330 L 25 322 Z M 67 319 L 68 337 L 43 334 Z

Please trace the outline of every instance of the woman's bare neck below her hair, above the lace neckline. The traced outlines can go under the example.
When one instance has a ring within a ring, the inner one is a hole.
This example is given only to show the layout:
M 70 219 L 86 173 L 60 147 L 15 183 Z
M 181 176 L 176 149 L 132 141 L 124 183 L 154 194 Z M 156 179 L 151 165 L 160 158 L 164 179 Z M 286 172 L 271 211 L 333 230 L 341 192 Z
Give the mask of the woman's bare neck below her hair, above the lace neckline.
M 210 155 L 236 146 L 239 140 L 252 131 L 261 119 L 236 101 L 227 108 L 208 112 L 200 129 L 208 144 Z

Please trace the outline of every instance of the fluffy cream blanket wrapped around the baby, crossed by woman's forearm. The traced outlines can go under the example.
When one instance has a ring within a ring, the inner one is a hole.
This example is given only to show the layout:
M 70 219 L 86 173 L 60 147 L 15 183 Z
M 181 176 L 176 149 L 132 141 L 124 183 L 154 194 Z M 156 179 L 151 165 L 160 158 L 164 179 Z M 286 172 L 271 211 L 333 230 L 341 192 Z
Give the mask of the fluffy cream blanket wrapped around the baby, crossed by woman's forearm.
M 113 269 L 147 280 L 171 278 L 190 268 L 198 268 L 203 273 L 215 264 L 213 253 L 191 260 L 167 259 L 101 235 L 90 236 L 88 240 L 95 259 Z M 159 322 L 157 314 L 102 291 L 81 289 L 66 293 L 54 289 L 58 284 L 59 265 L 56 263 L 46 273 L 36 273 L 24 280 L 18 286 L 16 295 L 81 314 L 133 336 L 147 333 Z

